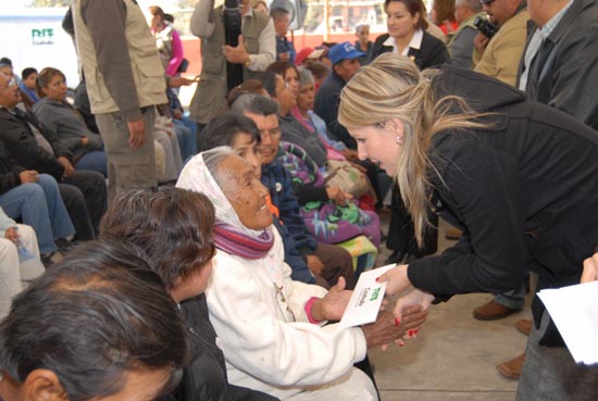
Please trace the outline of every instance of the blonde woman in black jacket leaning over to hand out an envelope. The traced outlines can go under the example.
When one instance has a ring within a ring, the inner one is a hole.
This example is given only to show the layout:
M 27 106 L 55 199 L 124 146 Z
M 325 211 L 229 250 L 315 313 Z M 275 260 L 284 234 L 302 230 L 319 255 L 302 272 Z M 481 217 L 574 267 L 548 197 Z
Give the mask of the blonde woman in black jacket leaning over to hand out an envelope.
M 527 270 L 538 289 L 580 283 L 598 243 L 596 131 L 494 78 L 449 65 L 421 73 L 396 54 L 347 84 L 338 121 L 359 156 L 398 183 L 420 243 L 428 208 L 464 231 L 443 254 L 379 277 L 390 293 L 415 287 L 397 317 L 411 304 L 512 289 Z M 598 371 L 575 365 L 537 299 L 533 314 L 518 400 L 595 397 L 577 389 L 595 389 Z

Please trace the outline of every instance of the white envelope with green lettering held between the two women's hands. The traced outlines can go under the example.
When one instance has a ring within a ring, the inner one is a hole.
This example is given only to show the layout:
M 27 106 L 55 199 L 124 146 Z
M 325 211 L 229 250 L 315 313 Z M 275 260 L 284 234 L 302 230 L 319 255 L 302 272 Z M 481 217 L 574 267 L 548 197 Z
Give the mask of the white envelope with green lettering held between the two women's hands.
M 359 276 L 351 300 L 340 319 L 340 327 L 359 326 L 376 321 L 386 291 L 386 283 L 376 283 L 376 278 L 395 266 L 396 264 L 389 264 L 363 272 Z

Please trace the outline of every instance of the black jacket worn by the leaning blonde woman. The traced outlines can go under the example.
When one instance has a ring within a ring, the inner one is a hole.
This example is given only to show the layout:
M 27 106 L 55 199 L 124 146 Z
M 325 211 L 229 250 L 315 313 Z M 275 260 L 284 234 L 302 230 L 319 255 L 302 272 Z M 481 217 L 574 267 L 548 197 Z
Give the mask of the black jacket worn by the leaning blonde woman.
M 487 128 L 433 139 L 432 203 L 464 235 L 411 262 L 411 283 L 438 298 L 510 290 L 527 270 L 539 275 L 538 290 L 580 283 L 598 243 L 598 133 L 471 71 L 445 65 L 432 86 L 437 98 L 458 95 L 494 114 Z M 535 299 L 536 325 L 543 310 Z M 551 335 L 544 343 L 559 344 Z

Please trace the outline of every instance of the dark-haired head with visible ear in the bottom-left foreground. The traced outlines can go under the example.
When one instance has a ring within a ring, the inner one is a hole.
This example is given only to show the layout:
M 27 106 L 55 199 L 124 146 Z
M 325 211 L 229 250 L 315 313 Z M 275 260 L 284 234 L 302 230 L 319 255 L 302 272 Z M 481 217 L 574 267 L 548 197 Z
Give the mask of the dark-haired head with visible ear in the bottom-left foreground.
M 135 247 L 87 242 L 0 323 L 4 401 L 153 400 L 178 383 L 185 326 Z

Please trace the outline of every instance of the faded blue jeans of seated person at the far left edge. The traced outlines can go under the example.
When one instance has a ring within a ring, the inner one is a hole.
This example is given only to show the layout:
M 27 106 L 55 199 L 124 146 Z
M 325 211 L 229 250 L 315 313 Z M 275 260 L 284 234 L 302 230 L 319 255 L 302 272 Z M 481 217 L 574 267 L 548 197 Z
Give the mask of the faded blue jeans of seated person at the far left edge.
M 54 239 L 75 234 L 58 184 L 48 174 L 40 174 L 35 184 L 22 184 L 0 195 L 0 206 L 10 217 L 21 217 L 34 228 L 41 254 L 57 250 Z

